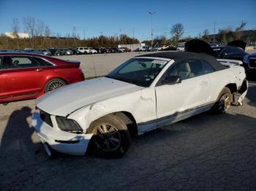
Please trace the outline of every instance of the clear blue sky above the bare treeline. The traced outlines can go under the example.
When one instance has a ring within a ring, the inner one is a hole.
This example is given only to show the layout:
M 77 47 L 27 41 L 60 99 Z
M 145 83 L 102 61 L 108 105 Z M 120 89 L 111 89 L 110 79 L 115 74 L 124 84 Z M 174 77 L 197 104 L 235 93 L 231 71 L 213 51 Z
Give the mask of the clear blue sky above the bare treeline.
M 143 41 L 151 39 L 151 15 L 154 36 L 170 38 L 176 23 L 184 26 L 183 37 L 198 36 L 204 29 L 211 34 L 220 28 L 240 26 L 256 29 L 256 0 L 0 0 L 0 34 L 12 31 L 12 19 L 18 18 L 20 32 L 23 17 L 35 17 L 50 27 L 52 35 L 72 35 L 80 38 L 127 34 Z

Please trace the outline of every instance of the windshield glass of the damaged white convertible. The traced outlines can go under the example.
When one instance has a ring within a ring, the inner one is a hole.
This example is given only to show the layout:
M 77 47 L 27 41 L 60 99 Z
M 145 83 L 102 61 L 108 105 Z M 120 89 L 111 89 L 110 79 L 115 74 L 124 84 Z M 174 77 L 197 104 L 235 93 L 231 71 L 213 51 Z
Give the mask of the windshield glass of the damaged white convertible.
M 111 71 L 106 77 L 148 87 L 166 63 L 167 61 L 154 58 L 132 58 Z

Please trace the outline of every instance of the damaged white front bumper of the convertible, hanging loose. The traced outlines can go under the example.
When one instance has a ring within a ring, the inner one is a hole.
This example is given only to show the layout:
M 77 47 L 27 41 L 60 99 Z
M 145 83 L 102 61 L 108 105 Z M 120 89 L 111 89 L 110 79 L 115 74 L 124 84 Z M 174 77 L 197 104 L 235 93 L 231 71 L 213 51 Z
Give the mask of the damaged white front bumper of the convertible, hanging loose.
M 93 134 L 75 134 L 59 130 L 55 117 L 50 116 L 53 127 L 43 122 L 39 110 L 32 115 L 32 125 L 42 144 L 48 144 L 57 152 L 69 155 L 85 155 Z

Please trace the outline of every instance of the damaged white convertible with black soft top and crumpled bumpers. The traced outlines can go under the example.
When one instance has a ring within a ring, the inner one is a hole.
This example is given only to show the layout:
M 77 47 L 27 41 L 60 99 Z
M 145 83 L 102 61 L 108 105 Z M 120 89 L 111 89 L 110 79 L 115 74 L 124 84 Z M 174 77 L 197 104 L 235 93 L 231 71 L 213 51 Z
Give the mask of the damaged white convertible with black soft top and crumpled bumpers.
M 241 105 L 244 68 L 223 66 L 210 55 L 159 52 L 122 63 L 105 77 L 61 87 L 37 99 L 34 129 L 50 150 L 121 157 L 130 135 L 212 109 Z

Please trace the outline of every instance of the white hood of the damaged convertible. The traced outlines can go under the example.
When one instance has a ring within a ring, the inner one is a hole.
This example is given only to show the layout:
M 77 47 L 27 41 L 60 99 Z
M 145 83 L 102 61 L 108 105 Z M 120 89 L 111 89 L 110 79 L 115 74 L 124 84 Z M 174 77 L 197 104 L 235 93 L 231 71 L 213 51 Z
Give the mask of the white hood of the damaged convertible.
M 143 87 L 99 77 L 53 90 L 37 99 L 37 107 L 53 115 L 67 116 L 83 106 L 140 90 Z

